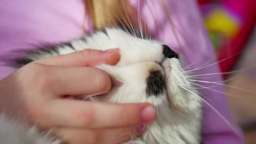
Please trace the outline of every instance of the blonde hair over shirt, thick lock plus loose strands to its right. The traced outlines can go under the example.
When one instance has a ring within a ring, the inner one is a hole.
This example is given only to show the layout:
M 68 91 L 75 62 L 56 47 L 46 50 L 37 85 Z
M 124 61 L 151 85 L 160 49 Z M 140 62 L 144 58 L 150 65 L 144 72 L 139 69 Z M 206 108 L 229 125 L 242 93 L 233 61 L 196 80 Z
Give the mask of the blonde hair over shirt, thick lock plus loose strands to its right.
M 147 1 L 145 1 L 147 4 Z M 175 30 L 171 15 L 169 14 L 166 4 L 163 0 L 158 1 L 161 4 L 163 11 L 166 15 L 167 21 L 171 23 L 172 30 L 175 38 L 181 49 L 183 47 L 178 38 L 178 31 Z M 93 20 L 93 26 L 95 30 L 105 29 L 106 26 L 110 27 L 133 27 L 135 30 L 139 28 L 138 21 L 138 10 L 134 9 L 134 7 L 127 0 L 84 0 L 85 4 L 85 15 L 89 14 Z M 150 9 L 150 12 L 153 13 L 153 10 Z M 142 28 L 142 33 L 146 33 L 147 25 L 142 18 L 140 18 L 140 23 L 144 25 Z M 157 22 L 153 19 L 155 26 L 157 26 Z M 83 31 L 85 28 L 85 21 L 83 25 Z M 155 31 L 158 33 L 158 31 Z M 149 34 L 150 35 L 150 34 Z

